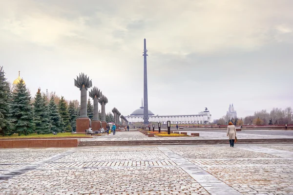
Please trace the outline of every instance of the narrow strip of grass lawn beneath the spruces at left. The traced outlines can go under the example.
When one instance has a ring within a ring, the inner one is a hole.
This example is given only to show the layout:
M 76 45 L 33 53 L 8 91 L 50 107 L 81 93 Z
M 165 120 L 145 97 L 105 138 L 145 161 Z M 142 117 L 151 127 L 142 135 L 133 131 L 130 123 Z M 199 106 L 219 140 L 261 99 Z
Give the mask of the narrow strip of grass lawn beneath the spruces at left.
M 11 136 L 0 136 L 0 139 L 7 139 L 7 138 L 38 138 L 38 137 L 90 137 L 89 135 L 85 135 L 85 134 L 71 134 L 71 132 L 66 132 L 66 133 L 57 133 L 57 135 L 53 135 L 53 133 L 49 133 L 49 134 L 29 134 L 29 135 L 21 135 L 18 136 L 18 134 L 13 134 Z

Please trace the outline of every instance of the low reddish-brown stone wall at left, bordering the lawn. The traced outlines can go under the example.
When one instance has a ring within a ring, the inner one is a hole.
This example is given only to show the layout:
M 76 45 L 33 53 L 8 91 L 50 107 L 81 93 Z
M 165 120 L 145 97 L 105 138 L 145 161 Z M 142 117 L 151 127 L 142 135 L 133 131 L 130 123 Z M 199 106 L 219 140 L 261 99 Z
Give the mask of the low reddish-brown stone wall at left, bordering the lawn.
M 0 140 L 0 148 L 66 148 L 78 147 L 80 139 Z

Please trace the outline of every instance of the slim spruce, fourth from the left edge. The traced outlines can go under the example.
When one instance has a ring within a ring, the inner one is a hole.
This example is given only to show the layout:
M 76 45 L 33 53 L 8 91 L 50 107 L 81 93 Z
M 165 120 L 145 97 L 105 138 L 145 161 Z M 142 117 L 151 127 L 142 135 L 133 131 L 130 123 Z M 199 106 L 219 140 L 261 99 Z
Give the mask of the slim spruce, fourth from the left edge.
M 61 132 L 61 116 L 59 114 L 57 104 L 55 104 L 54 96 L 51 97 L 48 105 L 48 118 L 50 119 L 51 131 Z

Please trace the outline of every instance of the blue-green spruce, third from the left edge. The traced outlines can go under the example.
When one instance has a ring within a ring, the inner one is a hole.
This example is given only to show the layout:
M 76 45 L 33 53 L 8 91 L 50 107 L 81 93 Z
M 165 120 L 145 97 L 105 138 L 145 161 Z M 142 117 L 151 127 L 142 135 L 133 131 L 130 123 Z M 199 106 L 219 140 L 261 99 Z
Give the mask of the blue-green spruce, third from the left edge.
M 45 99 L 42 97 L 41 89 L 39 88 L 34 102 L 35 131 L 38 134 L 50 133 L 51 125 L 47 111 Z

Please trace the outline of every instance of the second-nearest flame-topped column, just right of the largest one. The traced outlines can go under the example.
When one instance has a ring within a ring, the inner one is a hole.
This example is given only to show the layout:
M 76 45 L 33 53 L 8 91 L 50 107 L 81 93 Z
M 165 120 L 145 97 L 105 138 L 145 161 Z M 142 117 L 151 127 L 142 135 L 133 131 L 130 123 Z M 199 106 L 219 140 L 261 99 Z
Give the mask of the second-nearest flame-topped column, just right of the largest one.
M 92 120 L 92 130 L 100 130 L 101 129 L 101 121 L 99 120 L 99 98 L 101 97 L 101 91 L 94 87 L 90 92 L 89 96 L 94 100 L 94 117 Z

